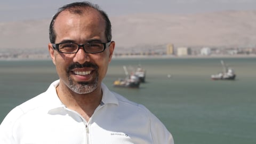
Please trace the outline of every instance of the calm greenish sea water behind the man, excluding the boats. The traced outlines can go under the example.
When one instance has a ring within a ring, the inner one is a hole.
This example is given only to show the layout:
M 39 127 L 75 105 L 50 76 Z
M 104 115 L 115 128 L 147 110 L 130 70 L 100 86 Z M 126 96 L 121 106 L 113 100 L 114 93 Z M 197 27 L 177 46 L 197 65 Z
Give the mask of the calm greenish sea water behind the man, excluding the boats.
M 221 71 L 216 59 L 114 59 L 104 83 L 142 103 L 166 125 L 175 143 L 256 143 L 256 58 L 222 59 L 236 81 L 212 81 Z M 147 70 L 140 89 L 112 86 L 128 68 Z M 172 77 L 167 78 L 170 74 Z M 16 105 L 44 92 L 58 79 L 44 61 L 0 61 L 0 122 Z

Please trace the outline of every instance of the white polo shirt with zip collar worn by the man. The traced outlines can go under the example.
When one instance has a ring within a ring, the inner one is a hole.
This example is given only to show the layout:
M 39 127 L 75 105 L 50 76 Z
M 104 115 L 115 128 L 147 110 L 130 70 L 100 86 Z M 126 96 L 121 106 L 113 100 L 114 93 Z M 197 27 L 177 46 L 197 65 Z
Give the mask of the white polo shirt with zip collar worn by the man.
M 0 125 L 0 143 L 174 143 L 166 127 L 138 103 L 102 84 L 102 102 L 89 122 L 58 98 L 53 82 L 47 91 L 15 107 Z

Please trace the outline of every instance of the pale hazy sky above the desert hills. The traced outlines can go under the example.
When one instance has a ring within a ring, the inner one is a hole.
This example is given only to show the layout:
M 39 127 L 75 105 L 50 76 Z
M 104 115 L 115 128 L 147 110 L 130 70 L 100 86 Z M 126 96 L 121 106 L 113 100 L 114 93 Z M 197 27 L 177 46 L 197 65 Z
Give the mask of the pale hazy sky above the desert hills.
M 132 13 L 198 13 L 223 10 L 256 10 L 255 0 L 89 0 L 109 17 Z M 13 0 L 0 2 L 0 21 L 51 18 L 69 0 Z

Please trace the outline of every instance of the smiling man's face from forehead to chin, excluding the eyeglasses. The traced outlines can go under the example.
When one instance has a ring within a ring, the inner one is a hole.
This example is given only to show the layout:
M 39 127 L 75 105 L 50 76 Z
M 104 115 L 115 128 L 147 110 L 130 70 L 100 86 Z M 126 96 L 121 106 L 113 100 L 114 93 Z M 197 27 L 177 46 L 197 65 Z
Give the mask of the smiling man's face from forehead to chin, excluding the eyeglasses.
M 107 43 L 105 25 L 105 21 L 95 10 L 86 11 L 83 14 L 63 11 L 54 23 L 57 36 L 55 43 Z M 77 53 L 66 54 L 54 51 L 52 45 L 49 44 L 49 51 L 60 77 L 60 86 L 68 87 L 79 94 L 100 90 L 100 84 L 107 73 L 114 46 L 113 42 L 101 53 L 85 53 L 80 47 Z

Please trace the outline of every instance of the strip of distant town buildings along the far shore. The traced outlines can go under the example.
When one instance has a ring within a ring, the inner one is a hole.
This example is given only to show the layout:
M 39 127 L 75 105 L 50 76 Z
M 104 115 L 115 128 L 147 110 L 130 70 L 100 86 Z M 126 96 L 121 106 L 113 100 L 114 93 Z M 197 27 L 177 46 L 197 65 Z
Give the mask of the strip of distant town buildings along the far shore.
M 145 45 L 138 47 L 116 47 L 114 58 L 211 58 L 211 57 L 256 57 L 255 47 L 186 47 L 173 44 Z M 1 49 L 0 60 L 50 59 L 46 48 Z

